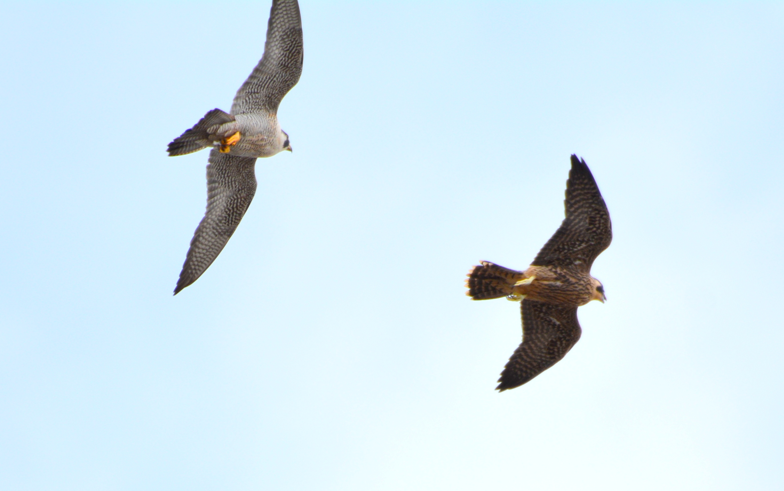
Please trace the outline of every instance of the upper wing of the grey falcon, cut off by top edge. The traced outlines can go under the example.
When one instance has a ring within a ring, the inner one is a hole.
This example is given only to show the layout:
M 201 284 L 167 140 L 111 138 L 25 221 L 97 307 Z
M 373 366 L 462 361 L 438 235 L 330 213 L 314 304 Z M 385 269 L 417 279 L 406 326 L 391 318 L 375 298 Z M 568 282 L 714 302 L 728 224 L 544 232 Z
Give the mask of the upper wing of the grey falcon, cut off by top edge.
M 296 0 L 273 0 L 264 55 L 234 96 L 231 114 L 278 114 L 302 74 L 302 22 Z

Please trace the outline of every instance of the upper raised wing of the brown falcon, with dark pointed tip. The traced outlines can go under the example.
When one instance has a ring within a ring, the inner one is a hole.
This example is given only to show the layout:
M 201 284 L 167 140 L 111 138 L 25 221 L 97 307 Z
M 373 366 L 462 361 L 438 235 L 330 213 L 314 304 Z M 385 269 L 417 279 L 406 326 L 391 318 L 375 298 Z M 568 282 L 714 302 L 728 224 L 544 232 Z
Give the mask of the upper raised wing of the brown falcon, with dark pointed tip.
M 588 273 L 593 260 L 612 242 L 612 224 L 590 169 L 576 155 L 572 155 L 564 207 L 566 218 L 561 227 L 531 264 L 577 267 Z

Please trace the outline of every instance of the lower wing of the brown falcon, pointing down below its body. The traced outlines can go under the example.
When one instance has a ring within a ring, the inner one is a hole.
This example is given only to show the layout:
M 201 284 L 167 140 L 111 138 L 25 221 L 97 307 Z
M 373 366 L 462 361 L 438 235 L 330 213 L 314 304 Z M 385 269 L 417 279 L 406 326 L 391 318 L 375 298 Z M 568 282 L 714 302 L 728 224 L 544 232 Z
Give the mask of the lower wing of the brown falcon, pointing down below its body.
M 576 306 L 523 300 L 521 311 L 523 342 L 501 372 L 496 387 L 501 392 L 519 387 L 553 366 L 572 349 L 582 332 Z

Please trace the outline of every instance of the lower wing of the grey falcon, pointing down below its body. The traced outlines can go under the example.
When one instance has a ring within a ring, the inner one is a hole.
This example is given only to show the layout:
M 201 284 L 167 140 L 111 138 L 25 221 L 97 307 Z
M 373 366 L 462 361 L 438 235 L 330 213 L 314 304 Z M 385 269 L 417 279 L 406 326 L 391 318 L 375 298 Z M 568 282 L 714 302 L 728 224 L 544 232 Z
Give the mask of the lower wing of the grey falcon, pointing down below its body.
M 212 149 L 207 165 L 207 211 L 191 240 L 174 294 L 198 280 L 215 261 L 256 193 L 256 157 Z

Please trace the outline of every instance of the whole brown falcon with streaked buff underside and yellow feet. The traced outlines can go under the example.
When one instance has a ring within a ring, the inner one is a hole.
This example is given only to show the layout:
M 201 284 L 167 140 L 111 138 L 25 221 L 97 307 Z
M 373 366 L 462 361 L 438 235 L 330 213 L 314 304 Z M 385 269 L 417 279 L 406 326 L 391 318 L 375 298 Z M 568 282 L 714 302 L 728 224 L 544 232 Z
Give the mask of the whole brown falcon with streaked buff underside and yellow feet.
M 577 308 L 604 303 L 604 286 L 590 276 L 593 260 L 612 242 L 607 205 L 585 161 L 572 155 L 566 218 L 525 271 L 481 262 L 468 273 L 473 300 L 521 300 L 523 341 L 501 373 L 499 391 L 519 387 L 563 358 L 582 330 Z

